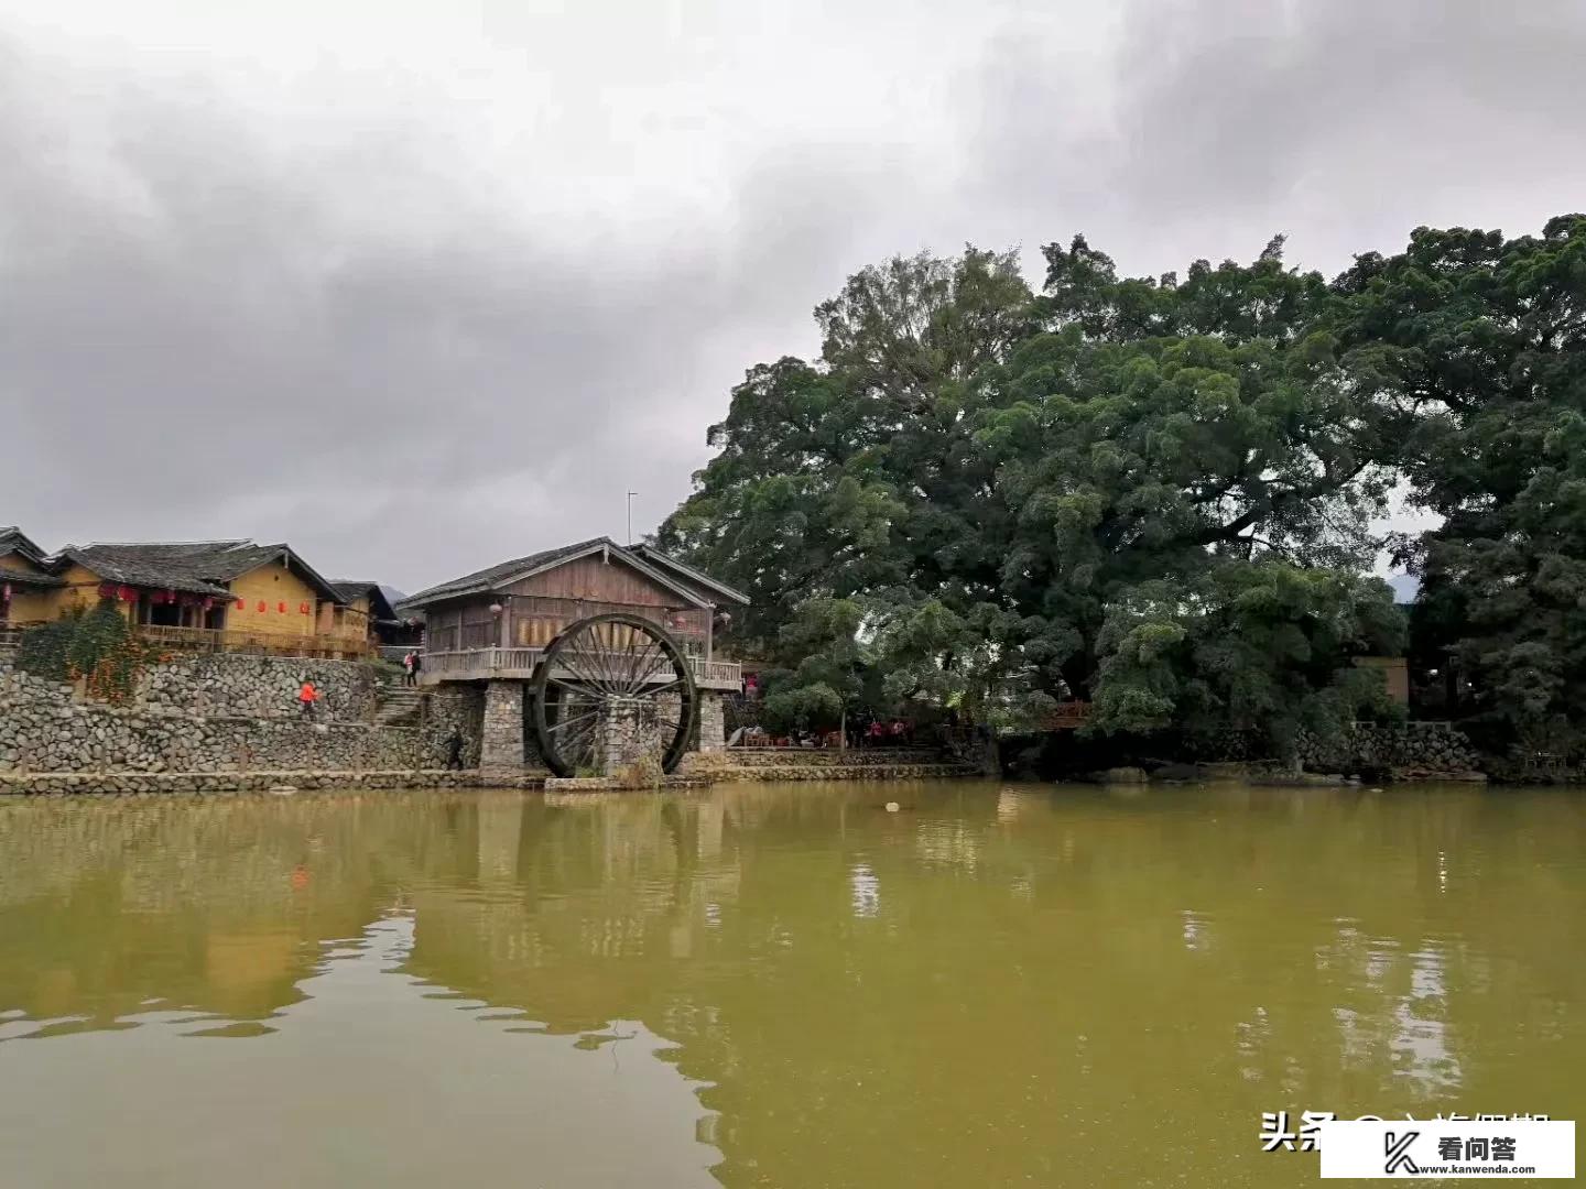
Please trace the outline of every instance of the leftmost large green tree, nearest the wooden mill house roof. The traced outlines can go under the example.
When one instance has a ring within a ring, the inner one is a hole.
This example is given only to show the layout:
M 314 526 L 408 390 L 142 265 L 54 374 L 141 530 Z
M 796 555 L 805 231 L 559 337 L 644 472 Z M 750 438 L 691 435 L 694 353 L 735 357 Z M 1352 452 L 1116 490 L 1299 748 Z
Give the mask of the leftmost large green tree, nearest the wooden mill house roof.
M 996 509 L 975 506 L 990 476 L 969 472 L 966 411 L 979 373 L 1025 336 L 1029 303 L 1012 255 L 858 273 L 815 311 L 817 361 L 758 365 L 733 390 L 709 431 L 718 453 L 660 542 L 749 593 L 741 629 L 768 650 L 806 599 L 972 569 L 977 517 Z M 990 553 L 982 568 L 990 588 Z

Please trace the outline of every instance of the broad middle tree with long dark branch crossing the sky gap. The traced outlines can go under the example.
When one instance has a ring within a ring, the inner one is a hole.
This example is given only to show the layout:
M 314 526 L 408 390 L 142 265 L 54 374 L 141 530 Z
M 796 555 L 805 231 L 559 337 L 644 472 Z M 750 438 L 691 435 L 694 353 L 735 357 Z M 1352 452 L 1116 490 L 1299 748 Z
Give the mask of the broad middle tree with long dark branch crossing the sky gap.
M 1142 583 L 1207 598 L 1232 563 L 1370 564 L 1397 411 L 1318 328 L 1326 284 L 1280 249 L 1183 282 L 1120 279 L 1083 239 L 1047 249 L 1045 330 L 990 379 L 977 441 L 1013 515 L 999 585 L 1080 698 L 1099 693 L 1109 609 Z

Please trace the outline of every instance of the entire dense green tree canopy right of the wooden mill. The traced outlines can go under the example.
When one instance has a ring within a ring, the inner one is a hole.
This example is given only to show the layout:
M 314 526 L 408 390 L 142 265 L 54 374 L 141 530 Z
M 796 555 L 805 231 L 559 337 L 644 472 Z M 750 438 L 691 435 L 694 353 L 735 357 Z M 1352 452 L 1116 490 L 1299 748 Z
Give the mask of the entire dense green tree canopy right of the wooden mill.
M 1586 224 L 1421 230 L 1334 282 L 1281 239 L 1182 279 L 1045 260 L 1040 293 L 1012 254 L 868 268 L 820 358 L 750 369 L 712 426 L 660 537 L 752 594 L 785 709 L 1327 731 L 1381 705 L 1351 659 L 1402 644 L 1369 577 L 1402 482 L 1445 517 L 1399 550 L 1484 712 L 1572 721 Z

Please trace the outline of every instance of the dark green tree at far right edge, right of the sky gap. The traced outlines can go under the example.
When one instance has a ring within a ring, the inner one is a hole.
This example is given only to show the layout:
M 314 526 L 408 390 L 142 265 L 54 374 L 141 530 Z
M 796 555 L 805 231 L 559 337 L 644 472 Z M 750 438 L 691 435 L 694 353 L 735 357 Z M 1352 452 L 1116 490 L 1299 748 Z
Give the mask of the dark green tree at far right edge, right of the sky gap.
M 1419 647 L 1451 655 L 1491 739 L 1586 739 L 1586 216 L 1540 236 L 1419 228 L 1340 277 L 1337 330 L 1413 412 L 1400 457 L 1442 518 L 1399 542 Z

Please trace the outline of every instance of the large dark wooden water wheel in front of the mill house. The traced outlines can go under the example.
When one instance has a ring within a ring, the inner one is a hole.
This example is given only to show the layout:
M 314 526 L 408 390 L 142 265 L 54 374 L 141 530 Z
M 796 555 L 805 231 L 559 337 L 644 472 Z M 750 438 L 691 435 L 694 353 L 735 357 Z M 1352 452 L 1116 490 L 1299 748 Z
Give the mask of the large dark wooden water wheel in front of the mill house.
M 573 777 L 606 766 L 614 721 L 671 772 L 693 736 L 699 694 L 684 650 L 639 615 L 592 615 L 550 642 L 534 671 L 534 734 L 546 766 Z

